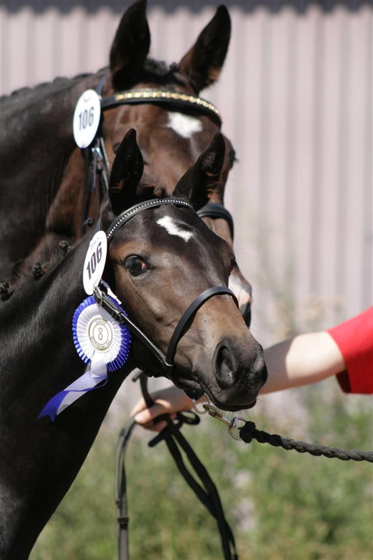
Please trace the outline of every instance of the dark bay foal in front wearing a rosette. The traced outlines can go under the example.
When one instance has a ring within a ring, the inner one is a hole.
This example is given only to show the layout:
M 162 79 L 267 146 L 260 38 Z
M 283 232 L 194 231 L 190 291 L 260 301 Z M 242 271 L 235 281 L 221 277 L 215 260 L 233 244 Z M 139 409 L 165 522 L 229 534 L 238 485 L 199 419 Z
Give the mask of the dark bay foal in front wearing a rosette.
M 219 188 L 223 164 L 224 139 L 217 134 L 164 202 L 163 189 L 140 181 L 143 158 L 130 130 L 112 167 L 101 204 L 101 228 L 111 240 L 104 276 L 129 318 L 164 353 L 188 305 L 207 288 L 228 285 L 232 249 L 195 212 Z M 54 422 L 38 418 L 45 403 L 84 371 L 71 323 L 87 297 L 82 270 L 94 233 L 49 263 L 37 282 L 23 279 L 0 312 L 2 558 L 27 558 L 81 468 L 121 382 L 136 366 L 154 370 L 153 354 L 133 335 L 128 360 L 108 374 L 105 386 L 75 400 Z M 219 407 L 249 408 L 266 381 L 266 367 L 224 290 L 205 301 L 180 333 L 172 379 L 195 398 L 206 393 Z

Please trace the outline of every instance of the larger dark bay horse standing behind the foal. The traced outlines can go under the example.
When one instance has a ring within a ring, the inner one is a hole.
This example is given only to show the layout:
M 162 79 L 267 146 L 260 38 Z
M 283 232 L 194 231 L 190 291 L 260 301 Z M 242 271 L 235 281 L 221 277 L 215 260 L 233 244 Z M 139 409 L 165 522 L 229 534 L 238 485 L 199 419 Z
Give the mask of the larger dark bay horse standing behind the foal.
M 195 45 L 178 64 L 170 67 L 147 58 L 150 34 L 146 1 L 135 2 L 124 13 L 110 52 L 107 69 L 72 79 L 24 89 L 3 97 L 0 105 L 0 280 L 12 283 L 20 269 L 49 260 L 61 240 L 73 242 L 81 234 L 84 159 L 74 143 L 72 118 L 82 92 L 103 80 L 104 100 L 123 90 L 149 88 L 196 96 L 219 77 L 230 38 L 230 18 L 220 6 L 202 30 Z M 97 38 L 100 40 L 100 38 Z M 171 100 L 172 101 L 172 100 Z M 219 121 L 197 103 L 174 102 L 121 104 L 104 113 L 102 130 L 108 162 L 129 128 L 138 132 L 144 157 L 144 182 L 162 180 L 168 194 L 218 132 Z M 224 186 L 234 161 L 234 150 L 225 138 L 226 156 L 219 186 L 211 200 L 222 203 Z M 88 216 L 98 217 L 100 196 L 92 193 Z M 225 220 L 204 220 L 232 244 Z M 249 312 L 251 288 L 233 267 L 238 283 L 240 309 Z M 11 293 L 0 286 L 4 298 Z

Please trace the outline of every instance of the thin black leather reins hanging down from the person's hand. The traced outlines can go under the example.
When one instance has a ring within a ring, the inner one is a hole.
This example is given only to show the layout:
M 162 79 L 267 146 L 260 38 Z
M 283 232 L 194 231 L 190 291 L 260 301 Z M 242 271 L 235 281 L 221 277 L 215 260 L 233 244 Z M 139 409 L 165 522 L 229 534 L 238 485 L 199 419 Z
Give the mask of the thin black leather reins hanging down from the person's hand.
M 137 379 L 137 378 L 136 378 Z M 150 397 L 147 389 L 147 376 L 144 373 L 140 375 L 141 390 L 147 407 L 151 407 L 154 402 Z M 221 505 L 220 497 L 216 486 L 211 480 L 209 473 L 202 465 L 201 461 L 188 444 L 185 437 L 180 432 L 183 424 L 198 424 L 199 417 L 195 413 L 192 416 L 187 416 L 183 413 L 177 413 L 177 422 L 174 423 L 168 414 L 162 414 L 157 420 L 166 420 L 167 426 L 149 442 L 149 447 L 154 447 L 160 441 L 164 440 L 168 447 L 169 452 L 174 459 L 176 466 L 183 478 L 186 480 L 188 486 L 196 494 L 199 500 L 207 508 L 213 517 L 215 517 L 221 537 L 221 546 L 223 548 L 224 560 L 238 560 L 237 549 L 235 547 L 235 540 L 225 519 L 223 506 Z M 125 472 L 125 451 L 130 440 L 131 433 L 136 423 L 133 419 L 121 431 L 116 449 L 116 472 L 115 472 L 115 501 L 117 506 L 117 535 L 118 535 L 118 553 L 119 560 L 128 560 L 129 547 L 128 547 L 128 503 L 126 497 L 126 472 Z M 190 465 L 195 470 L 195 473 L 200 478 L 202 485 L 192 476 L 187 469 L 182 454 L 182 449 L 190 462 Z M 232 552 L 233 550 L 233 552 Z

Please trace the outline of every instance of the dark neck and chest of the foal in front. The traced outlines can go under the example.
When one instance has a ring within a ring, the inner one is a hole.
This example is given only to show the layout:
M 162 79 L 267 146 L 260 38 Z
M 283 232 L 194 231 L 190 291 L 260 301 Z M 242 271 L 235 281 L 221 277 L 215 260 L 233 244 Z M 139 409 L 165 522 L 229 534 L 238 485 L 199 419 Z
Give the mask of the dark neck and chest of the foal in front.
M 108 375 L 105 386 L 79 398 L 54 423 L 37 418 L 85 367 L 74 348 L 71 321 L 86 297 L 82 270 L 91 238 L 84 238 L 34 286 L 23 287 L 18 296 L 15 292 L 0 313 L 0 533 L 4 549 L 16 549 L 8 555 L 12 558 L 28 556 L 134 367 L 128 360 Z

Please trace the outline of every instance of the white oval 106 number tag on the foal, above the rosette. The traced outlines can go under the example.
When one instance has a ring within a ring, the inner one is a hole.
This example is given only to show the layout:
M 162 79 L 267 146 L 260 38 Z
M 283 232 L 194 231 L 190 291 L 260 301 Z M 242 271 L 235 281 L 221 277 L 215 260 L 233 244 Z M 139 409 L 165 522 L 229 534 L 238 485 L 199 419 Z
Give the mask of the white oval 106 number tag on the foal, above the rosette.
M 107 253 L 107 239 L 105 231 L 98 231 L 93 237 L 84 260 L 83 286 L 84 290 L 91 296 L 101 280 L 105 268 Z

